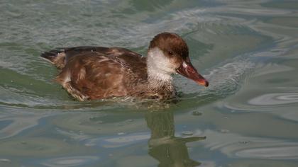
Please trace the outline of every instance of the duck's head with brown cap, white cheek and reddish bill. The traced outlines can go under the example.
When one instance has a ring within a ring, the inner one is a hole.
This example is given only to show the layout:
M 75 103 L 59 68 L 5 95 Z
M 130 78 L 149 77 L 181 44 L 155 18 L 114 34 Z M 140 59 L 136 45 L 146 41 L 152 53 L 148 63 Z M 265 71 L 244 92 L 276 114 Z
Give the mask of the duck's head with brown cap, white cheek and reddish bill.
M 181 74 L 197 84 L 209 85 L 190 62 L 186 42 L 175 33 L 156 35 L 150 42 L 147 61 L 150 78 L 168 81 L 171 74 Z

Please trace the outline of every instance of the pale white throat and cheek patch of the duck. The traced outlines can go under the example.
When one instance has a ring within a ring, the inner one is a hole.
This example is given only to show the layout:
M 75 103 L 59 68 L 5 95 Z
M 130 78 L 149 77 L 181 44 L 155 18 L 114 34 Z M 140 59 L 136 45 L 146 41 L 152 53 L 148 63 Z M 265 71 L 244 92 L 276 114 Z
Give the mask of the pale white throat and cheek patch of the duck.
M 170 60 L 158 47 L 148 50 L 147 72 L 150 84 L 154 86 L 172 84 L 172 74 L 175 71 L 171 66 Z

